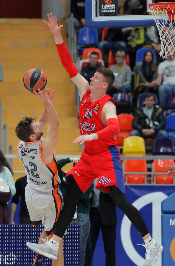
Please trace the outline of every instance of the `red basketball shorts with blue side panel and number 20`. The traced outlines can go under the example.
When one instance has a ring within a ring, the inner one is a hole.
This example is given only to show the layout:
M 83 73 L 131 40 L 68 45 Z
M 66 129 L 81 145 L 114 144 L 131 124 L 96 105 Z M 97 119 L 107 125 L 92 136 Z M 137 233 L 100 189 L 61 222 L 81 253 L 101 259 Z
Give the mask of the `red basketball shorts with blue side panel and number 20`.
M 97 189 L 110 192 L 110 186 L 117 186 L 125 193 L 120 150 L 115 145 L 101 150 L 82 151 L 79 162 L 66 173 L 66 182 L 73 176 L 81 191 L 84 193 L 98 177 Z

